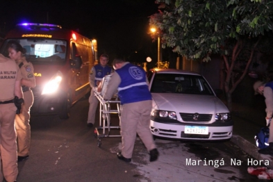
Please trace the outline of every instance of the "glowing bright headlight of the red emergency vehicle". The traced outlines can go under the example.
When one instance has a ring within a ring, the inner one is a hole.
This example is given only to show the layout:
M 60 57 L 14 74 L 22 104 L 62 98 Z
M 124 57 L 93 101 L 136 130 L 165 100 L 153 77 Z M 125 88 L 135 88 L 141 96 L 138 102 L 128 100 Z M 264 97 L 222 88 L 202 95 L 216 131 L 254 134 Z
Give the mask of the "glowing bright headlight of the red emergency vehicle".
M 63 74 L 58 71 L 57 74 L 52 76 L 49 82 L 44 85 L 44 89 L 42 90 L 42 94 L 52 94 L 58 90 L 60 82 L 62 81 Z

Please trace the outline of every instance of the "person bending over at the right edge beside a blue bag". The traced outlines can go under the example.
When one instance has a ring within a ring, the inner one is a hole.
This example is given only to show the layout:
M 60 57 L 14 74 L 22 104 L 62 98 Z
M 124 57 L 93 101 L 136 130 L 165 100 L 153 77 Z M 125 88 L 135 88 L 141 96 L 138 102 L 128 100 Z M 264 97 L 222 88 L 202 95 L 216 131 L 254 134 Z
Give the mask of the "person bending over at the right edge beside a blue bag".
M 268 83 L 263 83 L 262 81 L 256 81 L 254 83 L 255 94 L 261 94 L 265 97 L 266 105 L 266 125 L 270 125 L 270 138 L 268 138 L 269 147 L 258 150 L 260 154 L 270 154 L 273 156 L 273 124 L 270 124 L 273 114 L 273 81 Z

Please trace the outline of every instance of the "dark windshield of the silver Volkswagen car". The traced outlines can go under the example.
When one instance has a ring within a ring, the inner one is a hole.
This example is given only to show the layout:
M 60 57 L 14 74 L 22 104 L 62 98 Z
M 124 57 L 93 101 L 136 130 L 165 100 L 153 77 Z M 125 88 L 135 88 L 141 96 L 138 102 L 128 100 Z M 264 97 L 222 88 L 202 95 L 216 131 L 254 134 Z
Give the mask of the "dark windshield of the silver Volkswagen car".
M 213 91 L 202 76 L 190 74 L 156 74 L 151 93 L 207 94 Z

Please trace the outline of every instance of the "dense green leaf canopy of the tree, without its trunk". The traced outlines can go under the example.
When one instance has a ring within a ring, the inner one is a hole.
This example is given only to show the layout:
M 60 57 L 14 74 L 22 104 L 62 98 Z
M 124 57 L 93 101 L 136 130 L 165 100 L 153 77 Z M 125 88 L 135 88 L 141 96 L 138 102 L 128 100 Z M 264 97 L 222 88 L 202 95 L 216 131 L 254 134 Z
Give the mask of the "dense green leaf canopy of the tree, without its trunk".
M 160 29 L 163 47 L 192 59 L 209 60 L 210 53 L 227 55 L 226 40 L 252 38 L 272 30 L 273 3 L 269 1 L 191 1 L 164 2 L 172 7 L 152 15 L 151 26 Z

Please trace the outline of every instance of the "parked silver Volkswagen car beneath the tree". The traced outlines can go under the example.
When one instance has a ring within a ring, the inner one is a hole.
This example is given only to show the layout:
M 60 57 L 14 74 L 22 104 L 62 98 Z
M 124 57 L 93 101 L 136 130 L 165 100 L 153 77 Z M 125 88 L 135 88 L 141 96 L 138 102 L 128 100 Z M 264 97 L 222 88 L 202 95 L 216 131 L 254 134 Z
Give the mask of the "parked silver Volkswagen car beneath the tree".
M 151 69 L 151 133 L 182 140 L 228 140 L 233 121 L 206 79 L 179 69 Z

